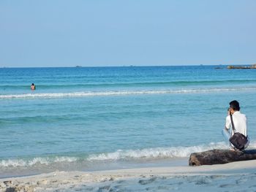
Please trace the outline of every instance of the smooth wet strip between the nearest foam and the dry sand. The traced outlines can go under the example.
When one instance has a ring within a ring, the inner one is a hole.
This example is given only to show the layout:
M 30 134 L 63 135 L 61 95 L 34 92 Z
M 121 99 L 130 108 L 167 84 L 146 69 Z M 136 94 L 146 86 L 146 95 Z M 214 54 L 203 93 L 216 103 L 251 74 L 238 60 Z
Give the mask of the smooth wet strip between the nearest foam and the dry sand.
M 42 164 L 40 167 L 20 167 L 15 166 L 12 169 L 0 169 L 0 180 L 7 178 L 18 178 L 18 177 L 30 177 L 40 174 L 49 174 L 51 172 L 108 172 L 112 170 L 121 169 L 140 169 L 148 167 L 162 167 L 162 166 L 187 166 L 189 158 L 163 158 L 157 160 L 135 160 L 135 161 L 103 161 L 97 162 L 94 165 L 89 166 L 86 163 L 78 164 L 66 164 L 61 166 L 53 166 L 53 164 Z M 88 162 L 87 162 L 88 163 Z M 67 168 L 65 169 L 64 166 Z

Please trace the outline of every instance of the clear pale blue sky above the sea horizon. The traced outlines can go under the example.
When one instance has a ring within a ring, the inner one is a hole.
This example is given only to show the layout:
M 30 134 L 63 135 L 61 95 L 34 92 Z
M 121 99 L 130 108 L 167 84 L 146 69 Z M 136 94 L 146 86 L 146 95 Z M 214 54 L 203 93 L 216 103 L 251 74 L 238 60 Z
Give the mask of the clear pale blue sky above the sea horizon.
M 0 1 L 0 66 L 256 63 L 256 1 Z

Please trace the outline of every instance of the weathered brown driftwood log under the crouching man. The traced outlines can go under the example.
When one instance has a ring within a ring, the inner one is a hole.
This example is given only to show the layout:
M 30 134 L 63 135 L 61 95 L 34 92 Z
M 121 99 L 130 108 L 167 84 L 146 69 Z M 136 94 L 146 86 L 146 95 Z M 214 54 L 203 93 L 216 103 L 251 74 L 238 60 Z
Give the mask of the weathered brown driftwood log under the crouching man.
M 233 161 L 256 159 L 256 150 L 207 150 L 201 153 L 192 153 L 189 157 L 189 166 L 227 164 Z

